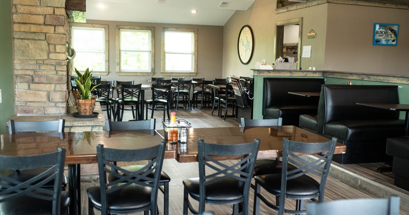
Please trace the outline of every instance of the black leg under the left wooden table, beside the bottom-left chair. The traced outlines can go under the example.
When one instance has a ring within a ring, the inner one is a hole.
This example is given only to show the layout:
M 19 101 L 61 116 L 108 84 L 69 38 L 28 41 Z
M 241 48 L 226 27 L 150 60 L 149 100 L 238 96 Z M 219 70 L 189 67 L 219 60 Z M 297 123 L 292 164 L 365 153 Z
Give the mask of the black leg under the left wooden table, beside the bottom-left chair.
M 81 214 L 81 173 L 80 164 L 68 165 L 70 192 L 70 215 Z

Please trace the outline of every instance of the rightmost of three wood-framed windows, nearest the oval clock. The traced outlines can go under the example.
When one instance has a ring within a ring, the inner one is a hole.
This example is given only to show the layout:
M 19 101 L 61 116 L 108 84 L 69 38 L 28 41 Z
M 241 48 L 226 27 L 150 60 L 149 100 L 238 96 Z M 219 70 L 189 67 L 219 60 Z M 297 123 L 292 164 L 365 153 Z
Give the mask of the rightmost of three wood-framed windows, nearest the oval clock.
M 163 28 L 162 72 L 166 75 L 195 75 L 197 29 Z

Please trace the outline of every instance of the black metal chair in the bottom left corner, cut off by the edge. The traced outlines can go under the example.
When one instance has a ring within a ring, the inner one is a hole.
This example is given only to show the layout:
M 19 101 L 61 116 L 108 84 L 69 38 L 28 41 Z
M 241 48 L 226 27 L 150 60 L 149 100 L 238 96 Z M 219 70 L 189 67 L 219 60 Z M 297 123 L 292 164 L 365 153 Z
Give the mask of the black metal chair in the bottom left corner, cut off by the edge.
M 44 169 L 29 180 L 0 174 L 0 214 L 67 214 L 68 192 L 61 191 L 65 149 L 36 156 L 0 156 L 0 169 Z M 52 183 L 52 189 L 43 186 Z

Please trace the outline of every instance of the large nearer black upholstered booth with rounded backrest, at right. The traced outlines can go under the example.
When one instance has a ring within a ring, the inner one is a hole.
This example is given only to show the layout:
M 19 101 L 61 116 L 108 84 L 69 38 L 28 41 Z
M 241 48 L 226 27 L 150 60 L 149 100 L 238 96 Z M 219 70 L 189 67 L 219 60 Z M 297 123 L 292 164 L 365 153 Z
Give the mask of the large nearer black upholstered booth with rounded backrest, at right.
M 317 115 L 300 116 L 300 127 L 347 145 L 346 154 L 334 155 L 342 163 L 391 161 L 386 153 L 389 137 L 404 135 L 399 112 L 357 105 L 357 102 L 399 103 L 395 85 L 330 85 L 321 90 Z

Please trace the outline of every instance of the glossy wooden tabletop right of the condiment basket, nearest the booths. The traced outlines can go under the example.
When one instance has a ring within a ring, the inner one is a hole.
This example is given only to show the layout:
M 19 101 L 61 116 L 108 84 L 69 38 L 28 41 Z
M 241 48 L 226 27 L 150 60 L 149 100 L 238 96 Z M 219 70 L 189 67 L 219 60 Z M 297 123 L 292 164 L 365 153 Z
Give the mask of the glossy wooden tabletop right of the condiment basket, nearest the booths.
M 158 131 L 163 134 L 163 130 Z M 282 156 L 283 138 L 300 142 L 326 142 L 329 139 L 308 132 L 302 128 L 285 125 L 280 128 L 254 127 L 240 132 L 240 127 L 211 127 L 190 128 L 188 130 L 188 141 L 185 144 L 170 144 L 177 150 L 178 162 L 197 161 L 197 140 L 203 139 L 209 143 L 238 144 L 252 142 L 260 139 L 260 148 L 257 158 L 275 158 Z M 346 153 L 346 146 L 336 143 L 335 154 Z

